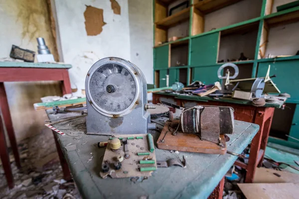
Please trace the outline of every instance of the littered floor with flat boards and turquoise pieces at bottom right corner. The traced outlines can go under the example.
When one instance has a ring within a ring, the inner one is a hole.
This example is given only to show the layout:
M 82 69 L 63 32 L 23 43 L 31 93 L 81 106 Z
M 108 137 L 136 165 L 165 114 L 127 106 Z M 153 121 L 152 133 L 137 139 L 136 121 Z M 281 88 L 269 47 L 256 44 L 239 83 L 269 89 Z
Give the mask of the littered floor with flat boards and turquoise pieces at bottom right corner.
M 249 148 L 238 160 L 248 163 Z M 256 169 L 254 182 L 244 183 L 246 172 L 239 166 L 225 175 L 223 199 L 298 198 L 299 188 L 298 150 L 279 144 L 268 143 L 263 166 Z M 277 191 L 284 189 L 284 191 Z M 297 190 L 293 190 L 297 189 Z

